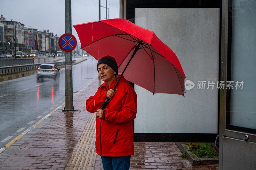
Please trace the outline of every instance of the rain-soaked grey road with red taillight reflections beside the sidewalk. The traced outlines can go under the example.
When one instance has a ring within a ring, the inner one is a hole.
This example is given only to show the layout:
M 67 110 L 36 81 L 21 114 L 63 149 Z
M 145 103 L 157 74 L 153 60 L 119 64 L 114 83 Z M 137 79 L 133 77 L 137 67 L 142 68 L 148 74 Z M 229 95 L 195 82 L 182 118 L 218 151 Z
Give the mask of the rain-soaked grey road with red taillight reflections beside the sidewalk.
M 97 60 L 73 66 L 73 92 L 78 92 L 97 75 Z M 80 59 L 80 58 L 79 58 Z M 79 60 L 76 58 L 76 60 Z M 36 81 L 36 74 L 0 82 L 0 149 L 65 102 L 65 68 L 60 78 Z M 62 108 L 63 109 L 63 108 Z

